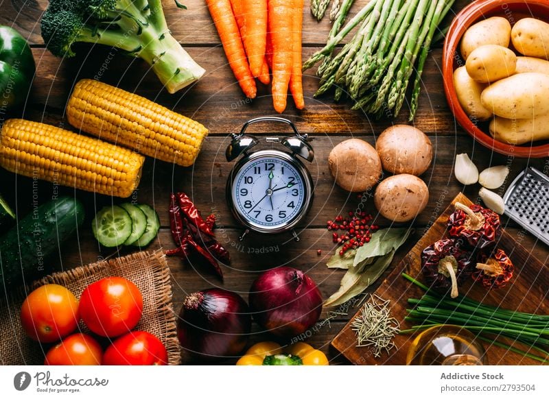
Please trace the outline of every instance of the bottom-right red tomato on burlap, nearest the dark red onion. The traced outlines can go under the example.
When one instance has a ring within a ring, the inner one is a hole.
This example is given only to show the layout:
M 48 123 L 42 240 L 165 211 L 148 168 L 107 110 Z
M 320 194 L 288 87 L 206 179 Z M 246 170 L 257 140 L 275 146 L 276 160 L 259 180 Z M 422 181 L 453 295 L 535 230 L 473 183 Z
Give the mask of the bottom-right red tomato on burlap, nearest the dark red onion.
M 104 365 L 165 365 L 167 351 L 160 339 L 146 331 L 132 331 L 105 351 Z

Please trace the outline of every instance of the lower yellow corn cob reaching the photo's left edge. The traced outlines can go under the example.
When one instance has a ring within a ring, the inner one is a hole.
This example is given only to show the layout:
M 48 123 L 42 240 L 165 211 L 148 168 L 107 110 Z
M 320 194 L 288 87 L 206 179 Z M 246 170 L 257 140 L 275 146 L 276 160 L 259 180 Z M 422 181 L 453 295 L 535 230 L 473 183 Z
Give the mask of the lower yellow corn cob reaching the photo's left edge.
M 1 131 L 2 167 L 75 189 L 129 197 L 144 160 L 130 149 L 44 123 L 8 119 Z

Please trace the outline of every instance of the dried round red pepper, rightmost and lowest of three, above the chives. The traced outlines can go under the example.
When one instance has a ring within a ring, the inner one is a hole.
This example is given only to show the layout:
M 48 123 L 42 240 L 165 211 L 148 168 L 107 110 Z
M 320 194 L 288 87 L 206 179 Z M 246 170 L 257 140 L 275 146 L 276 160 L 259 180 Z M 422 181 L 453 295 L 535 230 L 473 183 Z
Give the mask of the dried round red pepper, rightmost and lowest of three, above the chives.
M 513 277 L 515 267 L 509 256 L 503 250 L 495 250 L 494 254 L 480 254 L 473 271 L 473 279 L 482 282 L 486 288 L 504 287 Z

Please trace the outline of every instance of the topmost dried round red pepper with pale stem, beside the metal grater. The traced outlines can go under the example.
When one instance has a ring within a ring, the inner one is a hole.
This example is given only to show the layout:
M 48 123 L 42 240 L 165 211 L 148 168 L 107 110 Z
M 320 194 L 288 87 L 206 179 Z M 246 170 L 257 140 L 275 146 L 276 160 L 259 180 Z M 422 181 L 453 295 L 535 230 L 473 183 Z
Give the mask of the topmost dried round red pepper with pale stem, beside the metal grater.
M 465 206 L 456 202 L 448 219 L 449 236 L 463 238 L 480 250 L 495 246 L 501 230 L 500 215 L 480 205 Z

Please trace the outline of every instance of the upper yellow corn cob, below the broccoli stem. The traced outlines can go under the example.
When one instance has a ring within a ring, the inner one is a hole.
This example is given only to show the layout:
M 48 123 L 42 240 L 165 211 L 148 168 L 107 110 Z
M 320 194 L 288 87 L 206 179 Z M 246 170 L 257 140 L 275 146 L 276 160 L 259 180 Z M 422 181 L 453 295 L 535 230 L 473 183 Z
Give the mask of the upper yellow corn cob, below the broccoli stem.
M 84 79 L 67 104 L 75 128 L 184 167 L 193 165 L 208 130 L 200 123 L 125 90 Z

